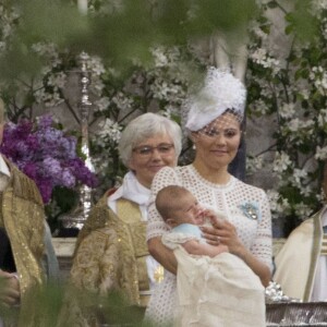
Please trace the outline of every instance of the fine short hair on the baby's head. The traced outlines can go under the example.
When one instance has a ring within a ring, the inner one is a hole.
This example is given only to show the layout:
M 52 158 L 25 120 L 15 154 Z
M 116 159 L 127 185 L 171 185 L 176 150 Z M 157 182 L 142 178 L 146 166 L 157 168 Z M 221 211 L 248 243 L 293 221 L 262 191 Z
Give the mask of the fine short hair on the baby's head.
M 179 185 L 168 185 L 161 189 L 156 196 L 156 208 L 162 219 L 166 221 L 172 218 L 172 213 L 177 209 L 177 204 L 182 196 L 185 196 L 190 191 Z

